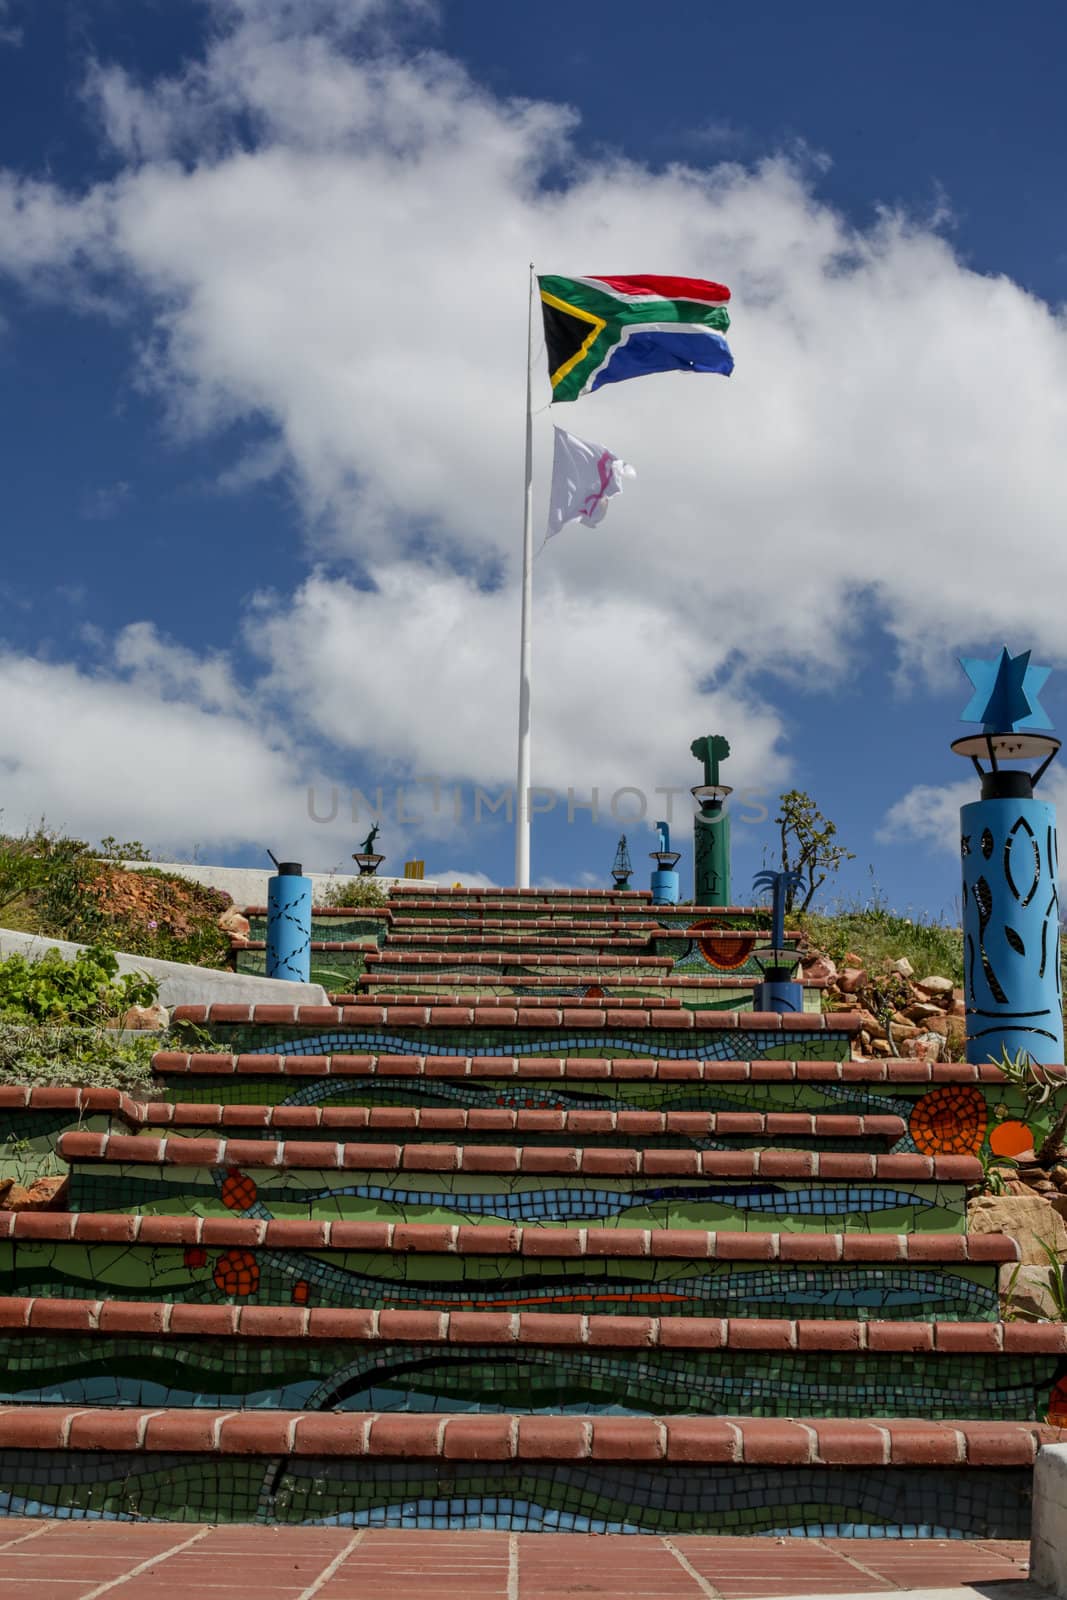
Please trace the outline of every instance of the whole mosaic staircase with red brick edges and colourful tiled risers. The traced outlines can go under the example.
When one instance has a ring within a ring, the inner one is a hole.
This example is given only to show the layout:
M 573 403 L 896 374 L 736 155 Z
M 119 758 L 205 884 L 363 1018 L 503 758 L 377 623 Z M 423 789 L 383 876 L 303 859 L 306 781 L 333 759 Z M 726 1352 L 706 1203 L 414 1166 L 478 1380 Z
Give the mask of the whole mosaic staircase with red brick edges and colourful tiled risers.
M 1025 1538 L 1067 1330 L 966 1230 L 1016 1091 L 752 1011 L 758 915 L 418 886 L 317 914 L 336 1003 L 179 1010 L 150 1101 L 0 1088 L 69 1171 L 0 1213 L 0 1509 Z

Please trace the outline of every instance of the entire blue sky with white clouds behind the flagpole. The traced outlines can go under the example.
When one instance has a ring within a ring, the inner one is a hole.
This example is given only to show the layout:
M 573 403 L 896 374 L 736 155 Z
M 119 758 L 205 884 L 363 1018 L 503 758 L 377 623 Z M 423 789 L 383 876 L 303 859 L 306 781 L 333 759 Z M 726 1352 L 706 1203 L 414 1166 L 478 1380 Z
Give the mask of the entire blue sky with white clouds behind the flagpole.
M 539 819 L 534 878 L 640 861 L 608 798 L 721 730 L 835 818 L 846 896 L 952 914 L 955 654 L 1067 653 L 1067 19 L 574 13 L 0 5 L 5 826 L 333 867 L 381 784 L 390 864 L 510 880 L 470 810 L 512 778 L 534 254 L 731 283 L 737 358 L 553 413 L 638 478 L 537 565 L 534 779 L 608 814 Z M 734 842 L 741 893 L 773 829 Z

